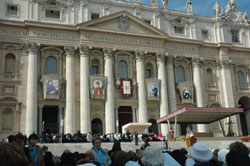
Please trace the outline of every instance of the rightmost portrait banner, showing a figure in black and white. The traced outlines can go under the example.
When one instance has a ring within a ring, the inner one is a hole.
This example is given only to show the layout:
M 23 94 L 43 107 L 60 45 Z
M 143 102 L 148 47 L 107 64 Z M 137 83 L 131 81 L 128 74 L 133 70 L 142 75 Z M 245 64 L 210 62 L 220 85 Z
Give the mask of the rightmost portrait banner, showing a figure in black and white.
M 179 83 L 182 103 L 194 103 L 194 88 L 192 83 Z

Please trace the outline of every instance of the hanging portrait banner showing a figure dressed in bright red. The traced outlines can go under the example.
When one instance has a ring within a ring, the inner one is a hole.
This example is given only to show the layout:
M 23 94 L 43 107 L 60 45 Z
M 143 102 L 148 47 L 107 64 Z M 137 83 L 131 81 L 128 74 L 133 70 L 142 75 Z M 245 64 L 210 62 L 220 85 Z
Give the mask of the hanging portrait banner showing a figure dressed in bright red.
M 90 96 L 92 99 L 105 99 L 105 77 L 90 76 Z

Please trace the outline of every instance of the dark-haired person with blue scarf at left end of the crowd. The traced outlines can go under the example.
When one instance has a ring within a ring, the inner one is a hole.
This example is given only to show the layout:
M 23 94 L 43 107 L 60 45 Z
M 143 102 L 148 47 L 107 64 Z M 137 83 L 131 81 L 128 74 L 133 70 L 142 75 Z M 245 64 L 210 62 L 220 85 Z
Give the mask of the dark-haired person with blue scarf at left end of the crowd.
M 40 146 L 37 145 L 38 136 L 36 134 L 31 134 L 29 136 L 29 148 L 31 150 L 31 155 L 35 161 L 35 166 L 43 166 L 43 151 Z

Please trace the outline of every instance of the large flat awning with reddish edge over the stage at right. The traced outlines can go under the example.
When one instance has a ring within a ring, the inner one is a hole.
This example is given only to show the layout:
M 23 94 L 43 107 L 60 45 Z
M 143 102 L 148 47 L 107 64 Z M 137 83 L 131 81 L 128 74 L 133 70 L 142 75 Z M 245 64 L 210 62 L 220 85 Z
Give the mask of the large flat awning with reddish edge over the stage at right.
M 206 107 L 184 107 L 171 114 L 161 117 L 157 123 L 192 123 L 209 124 L 226 117 L 242 113 L 242 108 L 206 108 Z

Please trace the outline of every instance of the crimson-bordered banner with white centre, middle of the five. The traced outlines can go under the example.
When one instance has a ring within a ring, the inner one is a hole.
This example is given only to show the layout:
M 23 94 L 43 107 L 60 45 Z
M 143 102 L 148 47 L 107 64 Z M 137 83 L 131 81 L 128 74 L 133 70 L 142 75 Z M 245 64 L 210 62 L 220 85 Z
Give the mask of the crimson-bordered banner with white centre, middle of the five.
M 121 78 L 121 96 L 133 97 L 133 80 L 131 78 Z

